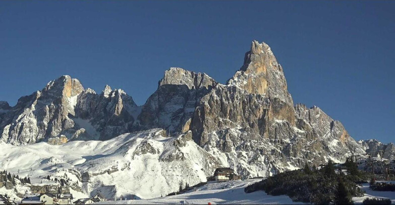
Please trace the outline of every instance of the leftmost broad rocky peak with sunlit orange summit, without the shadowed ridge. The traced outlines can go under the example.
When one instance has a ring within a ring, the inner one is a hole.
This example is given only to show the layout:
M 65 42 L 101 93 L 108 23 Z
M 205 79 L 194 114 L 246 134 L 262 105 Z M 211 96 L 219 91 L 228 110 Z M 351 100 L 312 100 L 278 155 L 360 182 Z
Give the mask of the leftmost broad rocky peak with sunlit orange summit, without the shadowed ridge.
M 65 75 L 50 81 L 41 91 L 21 97 L 0 125 L 1 141 L 31 144 L 73 128 L 68 116 L 75 115 L 77 96 L 83 90 L 77 79 Z

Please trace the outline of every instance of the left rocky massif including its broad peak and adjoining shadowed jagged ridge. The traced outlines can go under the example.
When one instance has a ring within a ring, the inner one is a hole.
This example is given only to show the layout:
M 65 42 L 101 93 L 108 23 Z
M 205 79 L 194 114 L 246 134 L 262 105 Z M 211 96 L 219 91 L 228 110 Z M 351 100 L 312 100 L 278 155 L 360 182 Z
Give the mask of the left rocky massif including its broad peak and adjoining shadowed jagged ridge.
M 123 90 L 97 95 L 68 75 L 21 97 L 13 108 L 4 102 L 0 106 L 0 140 L 14 145 L 112 138 L 129 131 L 137 109 Z

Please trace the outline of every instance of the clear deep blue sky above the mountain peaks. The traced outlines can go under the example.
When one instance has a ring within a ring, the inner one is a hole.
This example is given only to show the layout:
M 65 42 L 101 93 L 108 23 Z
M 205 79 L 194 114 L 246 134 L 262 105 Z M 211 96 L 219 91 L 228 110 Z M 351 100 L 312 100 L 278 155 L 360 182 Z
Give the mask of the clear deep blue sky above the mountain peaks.
M 395 142 L 395 1 L 0 1 L 0 100 L 61 75 L 138 105 L 170 67 L 224 83 L 251 41 L 283 65 L 295 103 L 356 140 Z

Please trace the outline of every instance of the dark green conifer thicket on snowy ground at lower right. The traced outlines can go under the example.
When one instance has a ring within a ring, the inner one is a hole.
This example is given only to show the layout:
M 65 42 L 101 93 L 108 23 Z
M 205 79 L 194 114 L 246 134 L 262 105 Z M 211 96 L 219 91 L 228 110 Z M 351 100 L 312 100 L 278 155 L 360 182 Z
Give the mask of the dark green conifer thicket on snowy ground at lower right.
M 310 168 L 306 164 L 304 169 L 282 172 L 251 184 L 245 188 L 245 192 L 264 190 L 270 195 L 285 194 L 294 201 L 314 204 L 352 204 L 353 196 L 363 195 L 357 185 L 362 178 L 361 173 L 357 164 L 351 160 L 337 167 L 340 170 L 336 174 L 330 160 L 320 169 L 315 166 Z M 343 173 L 343 167 L 347 169 L 347 175 Z

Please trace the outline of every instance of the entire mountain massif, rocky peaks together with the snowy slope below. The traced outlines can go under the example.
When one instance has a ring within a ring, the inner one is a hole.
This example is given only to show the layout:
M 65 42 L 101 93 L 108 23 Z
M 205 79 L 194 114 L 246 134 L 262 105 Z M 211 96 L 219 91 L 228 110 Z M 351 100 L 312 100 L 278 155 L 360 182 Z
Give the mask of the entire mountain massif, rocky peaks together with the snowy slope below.
M 0 133 L 5 169 L 72 173 L 85 194 L 105 187 L 143 198 L 205 181 L 216 167 L 266 176 L 367 149 L 318 107 L 294 106 L 283 68 L 257 41 L 227 83 L 170 68 L 143 106 L 121 89 L 96 94 L 62 76 L 15 107 L 0 102 Z

